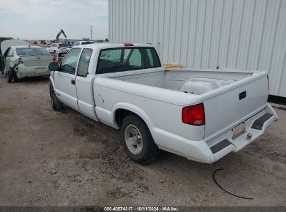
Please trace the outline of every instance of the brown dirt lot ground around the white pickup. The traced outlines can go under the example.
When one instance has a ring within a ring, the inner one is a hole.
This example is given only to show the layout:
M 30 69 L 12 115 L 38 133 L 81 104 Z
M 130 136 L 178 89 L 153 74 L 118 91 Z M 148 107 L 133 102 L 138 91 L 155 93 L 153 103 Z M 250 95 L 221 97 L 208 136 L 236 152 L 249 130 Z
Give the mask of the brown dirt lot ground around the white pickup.
M 149 165 L 125 155 L 119 132 L 65 107 L 45 77 L 0 78 L 0 206 L 286 206 L 286 111 L 239 153 L 212 165 L 161 152 Z M 223 192 L 213 181 L 239 199 Z

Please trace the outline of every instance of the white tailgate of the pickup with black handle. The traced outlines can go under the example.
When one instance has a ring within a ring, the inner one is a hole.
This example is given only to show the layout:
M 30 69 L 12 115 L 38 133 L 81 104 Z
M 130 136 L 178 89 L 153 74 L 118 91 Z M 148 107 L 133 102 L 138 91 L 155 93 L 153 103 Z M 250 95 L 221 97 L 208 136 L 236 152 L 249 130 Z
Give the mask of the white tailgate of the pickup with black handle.
M 267 73 L 251 76 L 235 85 L 226 86 L 219 93 L 205 93 L 205 139 L 230 130 L 267 104 Z

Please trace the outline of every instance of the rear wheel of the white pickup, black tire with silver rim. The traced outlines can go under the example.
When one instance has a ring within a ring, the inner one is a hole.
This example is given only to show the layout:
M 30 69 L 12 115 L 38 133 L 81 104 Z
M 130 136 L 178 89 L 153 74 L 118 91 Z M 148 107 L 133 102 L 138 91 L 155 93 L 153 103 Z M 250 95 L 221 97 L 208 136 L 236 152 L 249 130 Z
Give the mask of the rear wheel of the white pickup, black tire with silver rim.
M 126 116 L 121 125 L 122 146 L 127 155 L 140 164 L 146 164 L 159 153 L 146 124 L 137 116 Z

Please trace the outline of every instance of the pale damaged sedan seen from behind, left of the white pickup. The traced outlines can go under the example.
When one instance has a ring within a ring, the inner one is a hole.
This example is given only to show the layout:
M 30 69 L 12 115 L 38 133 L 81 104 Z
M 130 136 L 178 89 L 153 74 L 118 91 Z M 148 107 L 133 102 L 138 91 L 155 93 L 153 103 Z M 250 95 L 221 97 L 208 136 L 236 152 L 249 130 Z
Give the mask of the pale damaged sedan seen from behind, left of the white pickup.
M 3 54 L 8 82 L 17 82 L 24 77 L 49 75 L 49 63 L 53 56 L 35 45 L 10 46 Z

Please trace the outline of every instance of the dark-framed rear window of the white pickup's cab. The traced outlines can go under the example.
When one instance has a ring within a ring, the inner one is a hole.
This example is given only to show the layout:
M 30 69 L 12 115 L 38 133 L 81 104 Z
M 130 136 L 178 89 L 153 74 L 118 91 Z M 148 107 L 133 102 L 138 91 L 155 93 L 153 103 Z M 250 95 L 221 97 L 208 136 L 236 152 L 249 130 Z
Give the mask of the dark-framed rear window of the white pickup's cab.
M 100 51 L 97 74 L 161 67 L 154 47 L 120 47 Z

